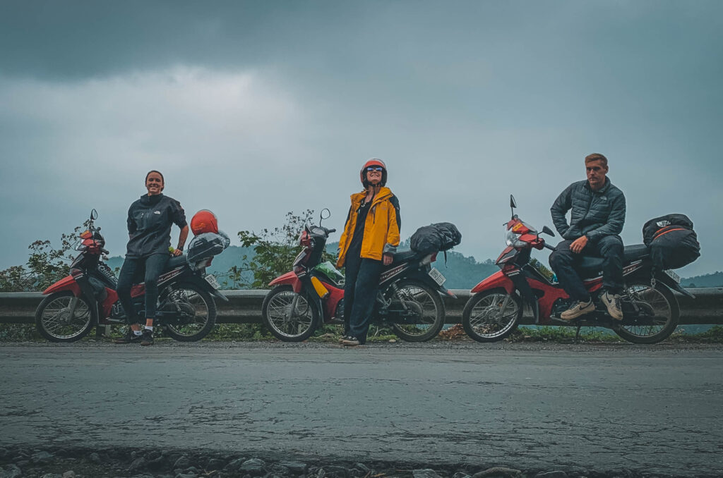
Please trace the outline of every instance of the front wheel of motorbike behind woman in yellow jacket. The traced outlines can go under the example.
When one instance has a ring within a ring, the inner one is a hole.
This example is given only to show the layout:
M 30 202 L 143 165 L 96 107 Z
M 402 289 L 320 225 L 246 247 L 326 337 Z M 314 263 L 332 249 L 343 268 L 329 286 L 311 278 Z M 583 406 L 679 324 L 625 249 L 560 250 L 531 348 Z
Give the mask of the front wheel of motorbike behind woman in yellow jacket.
M 290 285 L 274 287 L 261 306 L 264 325 L 283 342 L 301 342 L 317 329 L 321 313 L 306 295 L 297 294 Z

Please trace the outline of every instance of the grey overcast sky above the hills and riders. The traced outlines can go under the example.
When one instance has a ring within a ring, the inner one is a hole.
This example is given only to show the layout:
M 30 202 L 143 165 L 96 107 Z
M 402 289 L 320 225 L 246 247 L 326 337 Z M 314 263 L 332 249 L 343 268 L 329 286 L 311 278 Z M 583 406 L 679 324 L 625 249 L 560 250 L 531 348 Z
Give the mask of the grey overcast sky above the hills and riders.
M 680 274 L 723 270 L 721 32 L 717 0 L 4 0 L 0 268 L 93 207 L 123 254 L 150 169 L 234 243 L 303 209 L 341 229 L 369 157 L 387 162 L 403 238 L 454 222 L 482 261 L 504 246 L 509 194 L 552 226 L 601 152 L 625 243 L 683 212 L 702 256 Z

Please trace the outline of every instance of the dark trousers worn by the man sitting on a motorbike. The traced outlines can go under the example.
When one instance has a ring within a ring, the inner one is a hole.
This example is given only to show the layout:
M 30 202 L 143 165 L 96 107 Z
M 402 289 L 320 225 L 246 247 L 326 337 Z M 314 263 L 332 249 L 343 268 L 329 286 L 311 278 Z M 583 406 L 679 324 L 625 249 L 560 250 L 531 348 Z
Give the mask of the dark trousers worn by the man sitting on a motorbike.
M 590 300 L 580 274 L 575 270 L 583 256 L 598 256 L 602 263 L 602 287 L 611 294 L 623 292 L 623 240 L 618 235 L 606 235 L 597 243 L 588 242 L 581 253 L 570 251 L 573 240 L 563 240 L 549 255 L 549 265 L 557 274 L 562 289 L 573 300 Z

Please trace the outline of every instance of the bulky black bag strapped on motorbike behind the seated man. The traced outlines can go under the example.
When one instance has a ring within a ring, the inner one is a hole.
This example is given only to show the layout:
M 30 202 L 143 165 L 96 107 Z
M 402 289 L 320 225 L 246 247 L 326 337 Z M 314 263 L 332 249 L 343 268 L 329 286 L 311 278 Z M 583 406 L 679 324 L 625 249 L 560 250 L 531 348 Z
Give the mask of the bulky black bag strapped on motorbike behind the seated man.
M 643 243 L 656 268 L 678 269 L 701 256 L 693 221 L 685 214 L 666 214 L 643 225 Z

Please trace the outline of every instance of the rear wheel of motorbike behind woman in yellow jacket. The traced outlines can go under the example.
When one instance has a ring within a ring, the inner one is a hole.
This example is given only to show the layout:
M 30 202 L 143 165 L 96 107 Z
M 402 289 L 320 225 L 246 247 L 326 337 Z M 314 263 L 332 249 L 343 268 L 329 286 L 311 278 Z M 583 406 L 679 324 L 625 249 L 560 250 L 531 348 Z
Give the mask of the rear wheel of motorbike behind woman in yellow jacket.
M 434 339 L 445 325 L 445 304 L 439 292 L 422 282 L 402 280 L 397 284 L 392 305 L 412 310 L 415 323 L 393 323 L 394 333 L 406 342 L 427 342 Z

